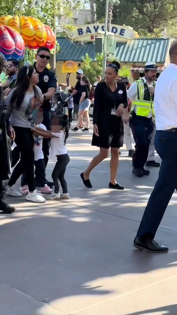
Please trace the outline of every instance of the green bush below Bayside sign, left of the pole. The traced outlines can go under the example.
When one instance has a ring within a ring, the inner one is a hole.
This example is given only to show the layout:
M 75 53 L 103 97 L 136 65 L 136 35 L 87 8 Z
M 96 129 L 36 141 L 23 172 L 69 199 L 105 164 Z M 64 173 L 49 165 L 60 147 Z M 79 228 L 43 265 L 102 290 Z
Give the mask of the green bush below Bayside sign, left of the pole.
M 83 63 L 81 69 L 83 73 L 89 78 L 90 83 L 93 84 L 96 81 L 97 76 L 102 74 L 103 54 L 96 55 L 96 62 L 93 62 L 88 54 L 85 55 L 85 58 L 82 57 L 82 60 Z

